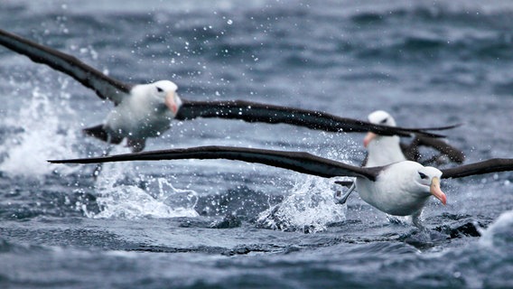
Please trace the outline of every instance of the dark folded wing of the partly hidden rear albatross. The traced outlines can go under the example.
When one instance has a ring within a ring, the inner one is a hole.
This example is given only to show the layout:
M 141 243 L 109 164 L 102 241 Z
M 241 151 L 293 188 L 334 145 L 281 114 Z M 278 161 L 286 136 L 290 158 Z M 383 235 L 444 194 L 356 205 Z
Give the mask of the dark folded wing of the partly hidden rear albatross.
M 423 145 L 433 148 L 440 154 L 434 155 L 428 160 L 421 160 L 422 155 L 419 152 L 419 147 Z M 408 160 L 420 163 L 434 163 L 441 156 L 448 157 L 453 163 L 463 163 L 465 161 L 465 154 L 463 154 L 459 149 L 455 148 L 451 144 L 447 144 L 441 139 L 427 137 L 424 135 L 415 135 L 414 140 L 410 144 L 401 143 L 401 149 Z

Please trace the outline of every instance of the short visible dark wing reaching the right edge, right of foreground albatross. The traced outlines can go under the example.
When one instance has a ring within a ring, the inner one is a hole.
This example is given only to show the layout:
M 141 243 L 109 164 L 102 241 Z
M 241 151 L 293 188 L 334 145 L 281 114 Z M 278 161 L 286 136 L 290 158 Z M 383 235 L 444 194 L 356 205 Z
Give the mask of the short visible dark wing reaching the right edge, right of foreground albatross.
M 441 171 L 443 179 L 462 178 L 490 172 L 507 172 L 513 171 L 513 159 L 490 159 L 480 163 L 465 164 Z

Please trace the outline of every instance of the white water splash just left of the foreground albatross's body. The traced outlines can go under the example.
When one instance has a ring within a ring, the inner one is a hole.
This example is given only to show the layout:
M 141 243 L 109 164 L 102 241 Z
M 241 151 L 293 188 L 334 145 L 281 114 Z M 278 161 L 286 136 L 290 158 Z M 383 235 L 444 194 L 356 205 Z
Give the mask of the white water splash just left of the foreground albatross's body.
M 332 182 L 314 176 L 296 182 L 294 193 L 263 211 L 257 222 L 266 228 L 319 232 L 346 219 L 347 206 L 334 202 Z

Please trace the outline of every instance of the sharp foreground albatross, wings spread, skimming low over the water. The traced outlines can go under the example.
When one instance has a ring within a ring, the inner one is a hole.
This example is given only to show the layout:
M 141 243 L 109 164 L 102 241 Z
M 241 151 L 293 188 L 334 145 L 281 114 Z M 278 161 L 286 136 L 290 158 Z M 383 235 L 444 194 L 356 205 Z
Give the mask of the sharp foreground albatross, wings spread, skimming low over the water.
M 50 160 L 50 163 L 110 163 L 126 161 L 161 161 L 179 159 L 228 159 L 247 163 L 263 163 L 278 168 L 303 172 L 324 178 L 356 177 L 356 190 L 362 200 L 393 216 L 411 216 L 422 228 L 419 217 L 431 196 L 447 202 L 440 188 L 441 179 L 513 171 L 513 159 L 490 159 L 439 170 L 413 161 L 402 161 L 376 167 L 359 167 L 303 152 L 275 151 L 232 146 L 198 146 L 135 154 L 70 160 Z

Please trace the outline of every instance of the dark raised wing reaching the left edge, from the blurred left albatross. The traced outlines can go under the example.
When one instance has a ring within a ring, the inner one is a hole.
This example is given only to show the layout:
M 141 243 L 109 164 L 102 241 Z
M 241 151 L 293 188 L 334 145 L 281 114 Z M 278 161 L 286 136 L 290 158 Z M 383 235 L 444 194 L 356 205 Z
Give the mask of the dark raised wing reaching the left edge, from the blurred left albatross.
M 132 88 L 129 84 L 107 77 L 105 74 L 69 54 L 56 51 L 50 47 L 45 47 L 3 30 L 0 30 L 0 44 L 27 56 L 34 62 L 46 64 L 54 70 L 68 74 L 85 87 L 93 89 L 98 94 L 98 97 L 112 100 L 115 104 L 119 104 L 123 95 L 129 93 Z

